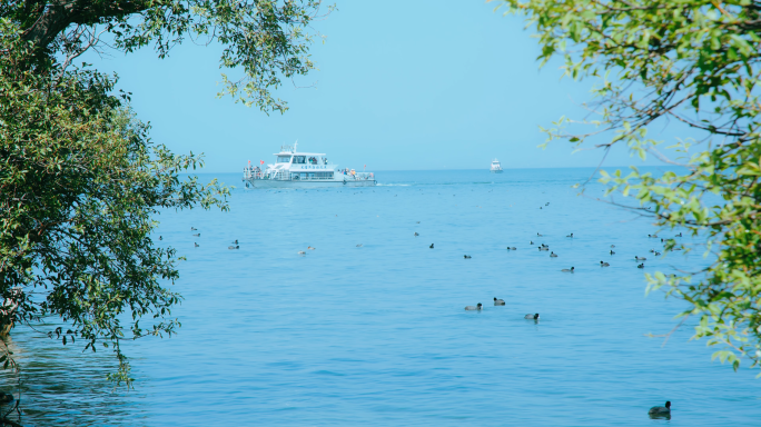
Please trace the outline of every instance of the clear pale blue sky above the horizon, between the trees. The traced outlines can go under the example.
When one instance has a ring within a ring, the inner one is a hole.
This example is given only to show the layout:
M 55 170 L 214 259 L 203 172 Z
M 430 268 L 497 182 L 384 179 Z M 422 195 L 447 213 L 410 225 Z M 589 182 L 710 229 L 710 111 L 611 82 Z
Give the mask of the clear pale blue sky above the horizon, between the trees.
M 204 152 L 206 172 L 237 172 L 247 160 L 271 162 L 280 145 L 327 152 L 343 167 L 367 170 L 596 166 L 596 150 L 546 150 L 538 126 L 581 118 L 592 80 L 561 80 L 560 62 L 542 70 L 536 39 L 520 18 L 474 1 L 344 0 L 316 28 L 319 68 L 277 96 L 284 116 L 216 98 L 218 46 L 186 41 L 160 60 L 146 48 L 85 60 L 118 72 L 151 137 L 178 153 Z M 673 132 L 673 128 L 670 129 Z M 673 138 L 673 135 L 671 136 Z M 625 149 L 607 166 L 642 165 Z M 656 165 L 649 160 L 650 165 Z

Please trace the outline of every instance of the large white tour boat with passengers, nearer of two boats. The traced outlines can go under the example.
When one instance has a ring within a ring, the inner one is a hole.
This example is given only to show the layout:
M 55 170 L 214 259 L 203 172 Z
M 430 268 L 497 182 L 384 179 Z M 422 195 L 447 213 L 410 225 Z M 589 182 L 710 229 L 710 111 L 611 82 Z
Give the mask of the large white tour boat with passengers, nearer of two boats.
M 313 188 L 313 187 L 373 187 L 375 175 L 354 169 L 338 169 L 323 152 L 297 151 L 298 142 L 280 147 L 276 162 L 261 170 L 249 165 L 244 168 L 246 188 Z M 261 160 L 264 166 L 264 160 Z

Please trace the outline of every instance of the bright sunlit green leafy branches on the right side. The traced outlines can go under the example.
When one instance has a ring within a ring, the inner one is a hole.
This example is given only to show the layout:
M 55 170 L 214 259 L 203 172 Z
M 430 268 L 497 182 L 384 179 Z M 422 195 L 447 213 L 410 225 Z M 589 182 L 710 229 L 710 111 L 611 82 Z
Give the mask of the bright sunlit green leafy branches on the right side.
M 682 317 L 700 319 L 693 338 L 706 338 L 714 357 L 734 369 L 742 358 L 761 364 L 761 143 L 759 60 L 761 2 L 751 0 L 503 0 L 508 13 L 526 17 L 542 47 L 542 64 L 564 59 L 564 75 L 593 77 L 596 120 L 561 118 L 544 129 L 548 141 L 582 145 L 611 135 L 596 147 L 625 143 L 682 172 L 660 177 L 636 168 L 603 172 L 611 191 L 634 197 L 629 208 L 652 216 L 664 229 L 688 229 L 705 238 L 715 259 L 702 271 L 646 275 L 648 290 L 689 304 Z M 698 140 L 668 148 L 648 137 L 656 121 L 674 119 Z M 589 125 L 594 130 L 575 131 Z M 571 129 L 572 128 L 572 129 Z M 666 250 L 682 248 L 666 241 Z M 665 254 L 665 251 L 664 251 Z

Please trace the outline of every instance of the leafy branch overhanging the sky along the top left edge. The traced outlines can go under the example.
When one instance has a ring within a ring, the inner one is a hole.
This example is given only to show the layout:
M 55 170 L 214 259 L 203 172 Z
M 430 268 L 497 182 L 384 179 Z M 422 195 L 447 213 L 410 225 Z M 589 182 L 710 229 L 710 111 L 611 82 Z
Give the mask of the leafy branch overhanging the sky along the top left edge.
M 334 8 L 328 7 L 326 13 Z M 283 79 L 315 69 L 308 47 L 319 33 L 310 27 L 320 13 L 319 0 L 11 0 L 0 4 L 0 18 L 13 22 L 36 50 L 34 64 L 47 69 L 57 60 L 69 66 L 88 49 L 112 47 L 132 52 L 154 44 L 165 58 L 190 38 L 219 43 L 224 89 L 246 106 L 285 112 L 287 102 L 273 89 Z

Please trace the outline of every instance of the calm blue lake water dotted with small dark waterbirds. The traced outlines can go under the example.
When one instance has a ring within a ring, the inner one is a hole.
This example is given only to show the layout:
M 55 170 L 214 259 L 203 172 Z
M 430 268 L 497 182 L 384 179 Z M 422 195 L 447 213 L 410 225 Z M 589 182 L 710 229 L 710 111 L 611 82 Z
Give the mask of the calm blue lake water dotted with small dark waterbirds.
M 136 390 L 111 391 L 108 354 L 21 329 L 22 370 L 3 381 L 22 381 L 29 426 L 758 426 L 755 371 L 711 363 L 689 324 L 665 346 L 645 336 L 683 305 L 645 297 L 634 256 L 645 272 L 705 260 L 655 259 L 646 220 L 595 201 L 597 183 L 571 188 L 591 172 L 377 172 L 376 188 L 306 191 L 220 176 L 239 187 L 230 212 L 161 215 L 162 244 L 188 258 L 182 328 L 126 348 Z M 672 419 L 649 419 L 665 400 Z

